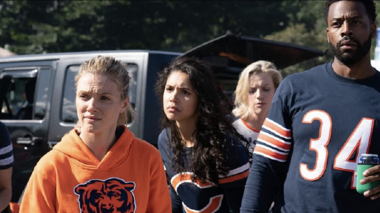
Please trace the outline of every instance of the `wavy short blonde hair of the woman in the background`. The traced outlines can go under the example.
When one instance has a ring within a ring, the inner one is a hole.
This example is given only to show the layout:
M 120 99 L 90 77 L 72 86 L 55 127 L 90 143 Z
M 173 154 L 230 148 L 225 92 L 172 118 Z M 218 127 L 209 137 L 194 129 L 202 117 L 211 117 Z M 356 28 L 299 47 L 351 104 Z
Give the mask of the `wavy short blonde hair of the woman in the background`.
M 277 89 L 280 85 L 283 77 L 281 73 L 277 70 L 276 65 L 269 61 L 256 61 L 248 65 L 239 75 L 239 81 L 234 92 L 235 96 L 235 108 L 232 113 L 241 119 L 247 119 L 250 113 L 248 107 L 247 94 L 249 91 L 249 77 L 253 74 L 258 73 L 268 73 L 272 78 L 274 89 Z

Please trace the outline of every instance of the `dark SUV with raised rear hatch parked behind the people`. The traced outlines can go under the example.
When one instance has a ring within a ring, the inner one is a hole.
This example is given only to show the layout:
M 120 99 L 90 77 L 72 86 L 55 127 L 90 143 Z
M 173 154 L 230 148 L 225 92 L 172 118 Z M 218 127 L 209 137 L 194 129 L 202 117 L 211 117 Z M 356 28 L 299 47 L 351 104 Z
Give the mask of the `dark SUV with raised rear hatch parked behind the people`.
M 81 63 L 97 55 L 112 55 L 128 64 L 132 79 L 130 101 L 137 112 L 128 128 L 136 137 L 156 145 L 160 131 L 159 103 L 153 91 L 156 73 L 174 57 L 188 55 L 208 61 L 220 84 L 229 85 L 224 92 L 230 94 L 240 71 L 251 62 L 269 60 L 285 68 L 323 52 L 228 34 L 186 53 L 129 50 L 0 58 L 0 120 L 8 127 L 15 157 L 11 202 L 20 202 L 37 161 L 76 124 L 74 76 Z

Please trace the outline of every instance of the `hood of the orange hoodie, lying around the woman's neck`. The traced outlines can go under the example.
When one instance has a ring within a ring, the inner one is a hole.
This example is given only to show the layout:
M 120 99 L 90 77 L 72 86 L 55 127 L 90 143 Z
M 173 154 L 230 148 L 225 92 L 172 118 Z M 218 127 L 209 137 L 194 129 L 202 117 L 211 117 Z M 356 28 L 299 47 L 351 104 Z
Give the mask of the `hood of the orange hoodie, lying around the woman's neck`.
M 128 159 L 134 135 L 123 126 L 124 132 L 117 139 L 102 160 L 98 160 L 86 144 L 79 138 L 75 129 L 62 137 L 62 140 L 53 147 L 68 158 L 77 161 L 85 167 L 96 169 L 113 169 Z

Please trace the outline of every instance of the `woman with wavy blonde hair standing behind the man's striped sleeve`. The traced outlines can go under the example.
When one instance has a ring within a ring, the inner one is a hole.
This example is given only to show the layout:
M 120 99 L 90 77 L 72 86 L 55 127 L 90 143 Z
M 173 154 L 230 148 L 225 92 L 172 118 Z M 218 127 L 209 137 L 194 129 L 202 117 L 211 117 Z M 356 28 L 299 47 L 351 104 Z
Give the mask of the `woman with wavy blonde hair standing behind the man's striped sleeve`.
M 281 73 L 269 61 L 256 61 L 240 73 L 232 110 L 238 119 L 233 126 L 249 142 L 245 145 L 250 155 L 281 81 Z

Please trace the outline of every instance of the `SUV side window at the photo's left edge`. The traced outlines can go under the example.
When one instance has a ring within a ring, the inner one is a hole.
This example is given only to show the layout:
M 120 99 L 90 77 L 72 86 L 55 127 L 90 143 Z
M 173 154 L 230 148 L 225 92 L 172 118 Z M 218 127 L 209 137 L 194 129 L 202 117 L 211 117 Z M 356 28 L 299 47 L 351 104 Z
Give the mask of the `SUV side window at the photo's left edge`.
M 38 76 L 49 79 L 51 68 L 10 69 L 0 73 L 2 120 L 41 120 L 46 113 L 48 80 L 36 87 Z M 41 75 L 41 71 L 44 72 Z M 40 89 L 39 89 L 40 88 Z M 36 91 L 39 93 L 36 94 Z

